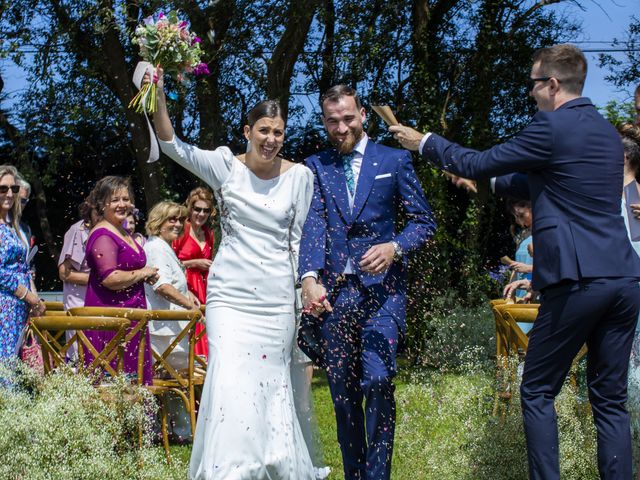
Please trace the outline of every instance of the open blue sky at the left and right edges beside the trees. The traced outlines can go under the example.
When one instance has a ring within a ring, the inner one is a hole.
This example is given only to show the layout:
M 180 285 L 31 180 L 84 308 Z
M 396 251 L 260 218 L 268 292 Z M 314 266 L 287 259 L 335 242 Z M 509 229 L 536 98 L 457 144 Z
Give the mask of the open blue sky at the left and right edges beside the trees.
M 583 25 L 583 33 L 576 41 L 583 49 L 606 49 L 610 45 L 604 43 L 614 38 L 624 39 L 631 16 L 640 17 L 640 0 L 581 0 L 584 11 L 574 2 L 562 1 L 559 4 L 545 7 L 554 8 L 570 16 Z M 598 67 L 598 54 L 586 53 L 589 61 L 589 73 L 584 94 L 598 106 L 604 106 L 609 100 L 630 101 L 634 85 L 623 91 L 618 90 L 605 80 L 608 73 Z M 622 53 L 614 55 L 624 57 Z M 5 80 L 5 93 L 9 97 L 3 102 L 4 108 L 10 108 L 17 95 L 25 87 L 26 76 L 9 60 L 0 59 L 0 69 Z

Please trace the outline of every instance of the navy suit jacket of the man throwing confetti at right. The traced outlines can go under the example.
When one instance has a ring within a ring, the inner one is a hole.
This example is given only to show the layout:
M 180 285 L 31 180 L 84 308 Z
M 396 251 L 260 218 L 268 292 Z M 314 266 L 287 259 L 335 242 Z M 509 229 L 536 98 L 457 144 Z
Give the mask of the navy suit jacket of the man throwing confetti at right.
M 497 194 L 531 200 L 534 289 L 562 280 L 640 277 L 620 215 L 622 143 L 588 98 L 539 111 L 517 136 L 489 150 L 432 134 L 422 155 L 455 175 L 499 177 Z

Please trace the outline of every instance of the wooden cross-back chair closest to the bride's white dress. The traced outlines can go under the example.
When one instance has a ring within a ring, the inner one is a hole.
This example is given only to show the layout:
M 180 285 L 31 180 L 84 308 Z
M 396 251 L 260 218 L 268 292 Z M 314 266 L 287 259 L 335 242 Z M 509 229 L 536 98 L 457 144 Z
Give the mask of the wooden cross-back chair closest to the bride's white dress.
M 189 415 L 191 435 L 195 435 L 196 429 L 196 392 L 198 385 L 204 384 L 206 375 L 206 361 L 195 354 L 195 345 L 202 335 L 196 334 L 196 324 L 202 319 L 199 310 L 149 310 L 149 321 L 187 321 L 181 331 L 175 336 L 164 351 L 151 349 L 153 355 L 153 383 L 147 388 L 160 397 L 160 419 L 162 430 L 162 442 L 167 460 L 171 462 L 169 453 L 169 432 L 167 428 L 166 398 L 169 392 L 173 392 L 182 400 L 185 410 Z M 202 332 L 201 332 L 202 333 Z M 187 367 L 174 368 L 169 362 L 169 357 L 180 342 L 188 339 Z

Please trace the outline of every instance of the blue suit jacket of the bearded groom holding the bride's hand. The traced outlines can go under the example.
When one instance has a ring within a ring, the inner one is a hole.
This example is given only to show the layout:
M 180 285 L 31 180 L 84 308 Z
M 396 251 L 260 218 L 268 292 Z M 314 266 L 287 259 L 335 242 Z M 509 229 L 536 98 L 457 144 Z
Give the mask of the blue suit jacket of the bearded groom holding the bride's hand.
M 358 262 L 373 245 L 395 240 L 404 252 L 422 246 L 433 235 L 435 221 L 411 163 L 409 152 L 386 147 L 369 139 L 362 159 L 353 210 L 349 208 L 342 161 L 331 149 L 307 159 L 314 173 L 314 194 L 300 245 L 299 274 L 320 272 L 328 292 L 351 258 L 365 287 L 383 284 L 401 293 L 389 312 L 404 331 L 406 264 L 393 262 L 381 274 L 363 272 Z M 396 231 L 400 211 L 406 226 Z

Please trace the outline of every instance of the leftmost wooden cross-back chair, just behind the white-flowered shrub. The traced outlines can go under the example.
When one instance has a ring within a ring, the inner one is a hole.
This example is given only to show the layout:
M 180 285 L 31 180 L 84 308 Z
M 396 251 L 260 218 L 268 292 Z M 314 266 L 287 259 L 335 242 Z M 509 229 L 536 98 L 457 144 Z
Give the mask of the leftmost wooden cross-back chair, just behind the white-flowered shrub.
M 131 322 L 124 318 L 113 317 L 71 317 L 68 315 L 48 315 L 32 317 L 29 328 L 33 331 L 42 347 L 42 359 L 45 372 L 66 366 L 66 354 L 72 345 L 78 348 L 78 372 L 95 375 L 107 373 L 116 376 L 122 372 L 124 359 L 124 339 Z M 71 338 L 65 338 L 65 332 L 75 331 Z M 84 334 L 85 330 L 108 330 L 115 332 L 113 339 L 105 345 L 102 351 L 97 351 Z M 93 355 L 93 361 L 85 365 L 85 351 Z M 111 359 L 117 358 L 116 368 L 111 365 Z

